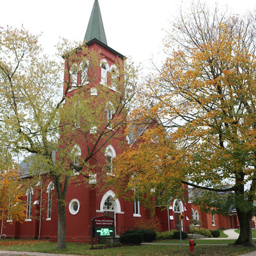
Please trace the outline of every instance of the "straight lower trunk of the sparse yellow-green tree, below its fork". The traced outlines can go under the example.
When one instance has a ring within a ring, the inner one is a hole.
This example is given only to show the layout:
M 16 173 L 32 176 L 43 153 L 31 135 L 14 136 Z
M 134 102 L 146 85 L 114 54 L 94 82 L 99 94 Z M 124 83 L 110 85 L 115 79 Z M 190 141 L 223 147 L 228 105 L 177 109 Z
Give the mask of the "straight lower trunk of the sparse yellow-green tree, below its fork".
M 57 249 L 66 249 L 66 214 L 65 204 L 58 200 L 58 242 Z

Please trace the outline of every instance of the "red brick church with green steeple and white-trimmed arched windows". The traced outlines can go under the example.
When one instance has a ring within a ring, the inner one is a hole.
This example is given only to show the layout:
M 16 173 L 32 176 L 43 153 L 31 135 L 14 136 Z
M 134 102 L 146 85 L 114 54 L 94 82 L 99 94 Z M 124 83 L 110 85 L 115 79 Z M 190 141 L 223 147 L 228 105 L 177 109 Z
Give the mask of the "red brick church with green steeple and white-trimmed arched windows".
M 87 42 L 86 45 L 89 50 L 101 51 L 102 60 L 99 63 L 99 76 L 97 76 L 98 81 L 96 81 L 100 84 L 102 80 L 107 79 L 108 72 L 114 67 L 115 62 L 118 59 L 124 59 L 124 56 L 107 44 L 98 0 L 94 1 L 84 40 Z M 110 90 L 112 89 L 110 88 Z M 91 90 L 91 95 L 95 94 L 97 92 Z M 68 96 L 71 95 L 72 91 L 69 92 Z M 126 143 L 128 142 L 126 141 Z M 121 153 L 121 147 L 118 147 L 118 143 L 115 140 L 105 146 L 108 157 L 111 159 Z M 82 145 L 77 145 L 76 149 L 80 155 L 83 155 L 83 148 Z M 28 164 L 23 162 L 20 166 L 25 171 L 24 175 L 26 176 L 26 173 L 28 175 Z M 112 200 L 115 198 L 115 188 L 101 192 L 99 188 L 92 189 L 92 187 L 83 185 L 77 186 L 77 183 L 80 182 L 79 174 L 77 179 L 70 181 L 66 196 L 67 241 L 89 241 L 91 238 L 91 219 L 93 217 L 101 215 L 113 217 L 117 235 L 120 235 L 125 227 L 133 227 L 136 220 L 149 218 L 148 210 L 145 210 L 138 201 L 127 202 L 122 197 Z M 28 188 L 27 194 L 24 195 L 24 201 L 27 201 L 26 219 L 23 223 L 19 223 L 12 222 L 11 217 L 8 218 L 5 227 L 2 228 L 1 235 L 3 237 L 57 240 L 57 206 L 54 186 L 50 180 L 45 179 L 44 182 L 46 189 L 40 191 L 40 193 L 36 193 L 36 190 L 38 190 L 36 186 Z M 83 182 L 82 178 L 81 182 Z M 95 182 L 97 182 L 96 176 L 95 179 L 89 181 L 92 185 Z M 41 209 L 40 198 L 36 195 L 42 195 L 46 199 L 44 209 Z M 168 209 L 162 211 L 160 211 L 162 208 L 156 205 L 155 217 L 157 216 L 161 221 L 163 231 L 177 228 L 180 214 L 185 217 L 181 224 L 184 227 L 189 226 L 189 220 L 196 219 L 202 220 L 203 226 L 208 229 L 238 228 L 236 212 L 231 212 L 230 216 L 227 217 L 218 216 L 217 214 L 209 215 L 200 212 L 197 206 L 190 203 L 188 194 L 187 197 L 188 201 L 186 203 L 174 200 Z

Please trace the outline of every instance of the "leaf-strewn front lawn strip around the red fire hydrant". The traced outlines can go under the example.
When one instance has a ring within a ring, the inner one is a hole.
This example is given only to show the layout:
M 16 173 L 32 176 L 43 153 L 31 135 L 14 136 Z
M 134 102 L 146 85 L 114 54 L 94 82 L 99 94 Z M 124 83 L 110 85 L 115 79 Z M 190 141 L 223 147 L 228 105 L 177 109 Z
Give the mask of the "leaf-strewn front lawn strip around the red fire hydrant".
M 177 240 L 178 241 L 178 240 Z M 97 245 L 100 246 L 100 245 Z M 0 250 L 29 251 L 29 252 L 52 252 L 67 253 L 90 256 L 187 256 L 189 246 L 183 246 L 183 253 L 180 253 L 180 246 L 177 245 L 138 245 L 123 246 L 108 249 L 90 250 L 89 244 L 67 243 L 67 249 L 56 250 L 56 243 L 35 240 L 2 240 Z M 96 246 L 95 246 L 96 247 Z M 200 245 L 195 247 L 195 256 L 232 256 L 254 251 L 255 248 L 233 247 L 227 245 Z

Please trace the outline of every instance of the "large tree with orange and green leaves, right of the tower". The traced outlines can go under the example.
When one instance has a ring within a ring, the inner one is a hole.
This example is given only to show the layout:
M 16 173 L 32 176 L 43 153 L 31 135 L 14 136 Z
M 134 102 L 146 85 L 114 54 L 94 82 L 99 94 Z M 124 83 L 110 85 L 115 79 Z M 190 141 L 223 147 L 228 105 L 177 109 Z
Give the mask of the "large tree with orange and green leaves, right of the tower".
M 136 187 L 135 196 L 147 204 L 151 196 L 162 204 L 182 198 L 187 185 L 204 190 L 195 203 L 208 212 L 212 206 L 218 213 L 236 208 L 235 244 L 249 246 L 256 185 L 255 25 L 250 13 L 229 16 L 200 2 L 189 14 L 180 12 L 165 42 L 168 58 L 134 112 L 135 134 L 148 129 L 116 160 L 113 180 L 120 194 Z

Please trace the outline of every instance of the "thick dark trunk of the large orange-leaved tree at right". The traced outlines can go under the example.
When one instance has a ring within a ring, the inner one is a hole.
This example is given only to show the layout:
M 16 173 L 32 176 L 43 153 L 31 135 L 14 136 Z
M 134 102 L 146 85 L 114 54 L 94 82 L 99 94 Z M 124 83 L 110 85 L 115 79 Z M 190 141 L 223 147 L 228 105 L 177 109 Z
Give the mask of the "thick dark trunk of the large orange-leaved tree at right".
M 244 245 L 244 246 L 253 246 L 252 243 L 252 230 L 251 230 L 251 221 L 252 221 L 252 212 L 242 212 L 236 208 L 238 220 L 240 223 L 240 235 L 237 238 L 234 245 Z

